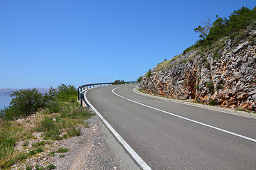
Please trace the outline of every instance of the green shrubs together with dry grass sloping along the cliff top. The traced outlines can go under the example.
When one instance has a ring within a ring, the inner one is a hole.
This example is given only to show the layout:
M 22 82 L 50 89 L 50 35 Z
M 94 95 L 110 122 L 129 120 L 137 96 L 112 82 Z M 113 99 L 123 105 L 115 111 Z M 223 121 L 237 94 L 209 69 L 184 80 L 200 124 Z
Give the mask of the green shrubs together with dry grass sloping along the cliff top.
M 232 40 L 232 47 L 239 45 L 242 40 L 247 40 L 249 45 L 255 44 L 256 33 L 250 34 L 251 29 L 256 29 L 256 6 L 255 8 L 242 7 L 238 11 L 234 11 L 228 18 L 220 18 L 216 16 L 216 20 L 213 23 L 208 19 L 207 21 L 202 21 L 202 26 L 195 28 L 196 33 L 200 33 L 199 40 L 196 41 L 194 45 L 183 50 L 185 55 L 189 52 L 193 52 L 188 60 L 177 60 L 181 55 L 177 55 L 171 60 L 164 60 L 156 65 L 154 68 L 156 72 L 163 69 L 171 69 L 176 64 L 176 61 L 183 62 L 193 62 L 193 57 L 196 56 L 206 56 L 207 54 L 213 53 L 213 59 L 220 60 L 218 52 L 222 51 L 225 47 L 225 43 L 228 40 Z M 202 58 L 199 64 L 204 64 L 206 67 L 209 65 L 207 60 Z M 149 77 L 149 72 L 146 72 L 146 77 Z

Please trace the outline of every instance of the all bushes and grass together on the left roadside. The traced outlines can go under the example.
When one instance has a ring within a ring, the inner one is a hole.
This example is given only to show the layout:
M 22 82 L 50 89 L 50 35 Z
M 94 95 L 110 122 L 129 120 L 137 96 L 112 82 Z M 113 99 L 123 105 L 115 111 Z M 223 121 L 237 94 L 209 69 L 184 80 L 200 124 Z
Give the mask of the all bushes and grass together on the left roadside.
M 92 113 L 77 101 L 75 86 L 61 84 L 40 94 L 37 89 L 15 91 L 9 108 L 1 110 L 0 169 L 25 162 L 48 149 L 53 141 L 79 136 Z M 38 135 L 39 134 L 39 135 Z M 21 145 L 21 148 L 18 147 Z M 55 153 L 68 152 L 56 149 Z M 63 157 L 63 156 L 62 156 Z M 37 167 L 35 167 L 37 169 Z M 49 164 L 41 169 L 55 169 Z M 31 165 L 27 169 L 32 169 Z

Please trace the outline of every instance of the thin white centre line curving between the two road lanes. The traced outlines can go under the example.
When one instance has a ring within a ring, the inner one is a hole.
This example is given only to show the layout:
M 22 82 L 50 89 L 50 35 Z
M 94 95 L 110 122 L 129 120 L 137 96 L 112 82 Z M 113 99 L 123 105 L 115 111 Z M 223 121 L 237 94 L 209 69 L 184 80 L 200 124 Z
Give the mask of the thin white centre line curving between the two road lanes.
M 117 87 L 117 88 L 119 88 L 119 87 Z M 114 88 L 114 89 L 112 90 L 113 94 L 115 94 L 115 95 L 117 95 L 117 96 L 119 96 L 119 97 L 121 97 L 121 98 L 124 98 L 124 99 L 126 99 L 127 101 L 132 101 L 132 100 L 129 99 L 129 98 L 125 98 L 124 96 L 120 96 L 119 94 L 116 94 L 116 93 L 114 92 L 114 90 L 117 89 L 117 88 Z M 191 122 L 193 122 L 193 123 L 198 123 L 199 125 L 204 125 L 204 126 L 206 126 L 206 127 L 208 127 L 208 128 L 213 128 L 213 129 L 215 129 L 215 130 L 220 130 L 221 132 L 228 133 L 228 134 L 230 134 L 230 135 L 235 135 L 235 136 L 237 136 L 237 137 L 242 137 L 242 138 L 245 139 L 245 140 L 250 140 L 250 141 L 252 141 L 252 142 L 256 142 L 255 139 L 252 139 L 252 138 L 250 138 L 250 137 L 246 137 L 246 136 L 243 136 L 243 135 L 239 135 L 239 134 L 237 134 L 237 133 L 235 133 L 235 132 L 230 132 L 230 131 L 228 131 L 228 130 L 223 130 L 223 129 L 217 128 L 217 127 L 215 127 L 215 126 L 208 125 L 208 124 L 206 124 L 206 123 L 201 123 L 201 122 L 198 122 L 198 121 L 196 121 L 196 120 L 192 120 L 192 119 L 189 119 L 189 118 L 182 117 L 181 115 L 176 115 L 176 114 L 174 114 L 174 113 L 169 113 L 169 112 L 167 112 L 167 111 L 163 111 L 163 110 L 161 110 L 161 109 L 159 109 L 159 108 L 154 108 L 154 107 L 151 107 L 151 106 L 147 106 L 147 105 L 145 105 L 145 104 L 143 104 L 143 103 L 139 103 L 139 102 L 137 102 L 137 101 L 132 101 L 132 102 L 133 102 L 133 103 L 137 103 L 137 104 L 142 105 L 142 106 L 145 106 L 145 107 L 147 107 L 147 108 L 154 109 L 154 110 L 156 110 L 156 111 L 160 111 L 160 112 L 163 112 L 163 113 L 166 113 L 166 114 L 169 114 L 169 115 L 176 116 L 177 118 L 182 118 L 182 119 L 184 119 L 184 120 L 188 120 L 188 121 L 191 121 Z

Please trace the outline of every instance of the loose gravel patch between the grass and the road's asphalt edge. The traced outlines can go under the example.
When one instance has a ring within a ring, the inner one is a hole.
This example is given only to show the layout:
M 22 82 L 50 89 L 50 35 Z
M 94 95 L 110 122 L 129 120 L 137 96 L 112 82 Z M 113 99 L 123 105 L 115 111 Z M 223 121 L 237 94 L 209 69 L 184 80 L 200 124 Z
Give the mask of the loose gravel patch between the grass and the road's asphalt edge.
M 88 120 L 89 128 L 81 128 L 81 135 L 71 137 L 67 140 L 53 141 L 46 144 L 44 152 L 38 153 L 33 157 L 14 164 L 11 169 L 26 169 L 31 166 L 36 169 L 36 165 L 46 167 L 53 164 L 56 169 L 117 169 L 117 163 L 114 162 L 113 154 L 105 142 L 97 122 L 97 116 L 92 116 Z M 40 140 L 41 133 L 35 134 Z M 21 147 L 18 143 L 16 147 Z M 68 148 L 68 152 L 55 153 L 50 156 L 49 153 L 58 148 Z

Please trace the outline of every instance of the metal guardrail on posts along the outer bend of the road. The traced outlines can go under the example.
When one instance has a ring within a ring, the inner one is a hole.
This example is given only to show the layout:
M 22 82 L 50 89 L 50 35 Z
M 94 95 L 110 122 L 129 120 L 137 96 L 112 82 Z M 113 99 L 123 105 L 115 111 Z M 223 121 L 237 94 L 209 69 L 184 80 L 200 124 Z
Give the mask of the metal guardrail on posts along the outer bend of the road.
M 85 101 L 84 94 L 82 91 L 93 87 L 100 87 L 100 86 L 110 86 L 110 85 L 118 85 L 118 84 L 137 84 L 137 81 L 126 81 L 126 82 L 111 82 L 111 83 L 97 83 L 97 84 L 85 84 L 78 87 L 78 101 L 80 101 L 80 105 L 82 106 L 82 101 L 85 102 L 87 107 L 90 107 L 87 102 Z M 81 100 L 80 100 L 81 99 Z

